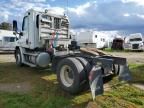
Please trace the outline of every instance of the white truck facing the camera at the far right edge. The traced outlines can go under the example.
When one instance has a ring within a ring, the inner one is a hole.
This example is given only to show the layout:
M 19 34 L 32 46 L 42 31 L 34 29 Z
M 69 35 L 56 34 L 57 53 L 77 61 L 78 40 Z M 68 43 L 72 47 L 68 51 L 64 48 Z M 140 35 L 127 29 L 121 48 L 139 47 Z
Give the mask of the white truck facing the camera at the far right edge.
M 144 38 L 141 33 L 130 34 L 125 39 L 124 49 L 127 50 L 144 50 Z

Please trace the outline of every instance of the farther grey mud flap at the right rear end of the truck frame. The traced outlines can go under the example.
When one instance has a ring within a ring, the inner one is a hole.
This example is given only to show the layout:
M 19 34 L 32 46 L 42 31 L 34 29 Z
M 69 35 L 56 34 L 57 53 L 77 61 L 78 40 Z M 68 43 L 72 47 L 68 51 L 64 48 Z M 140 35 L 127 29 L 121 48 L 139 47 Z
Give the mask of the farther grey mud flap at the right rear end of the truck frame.
M 123 80 L 123 81 L 132 80 L 130 70 L 127 64 L 120 65 L 119 80 Z

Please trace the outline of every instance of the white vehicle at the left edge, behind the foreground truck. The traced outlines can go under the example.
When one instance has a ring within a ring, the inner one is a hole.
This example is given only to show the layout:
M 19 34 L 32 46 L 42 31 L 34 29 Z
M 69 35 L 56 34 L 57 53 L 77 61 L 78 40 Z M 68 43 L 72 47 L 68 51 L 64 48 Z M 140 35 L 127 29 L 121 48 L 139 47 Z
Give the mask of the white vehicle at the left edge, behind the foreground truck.
M 0 51 L 14 51 L 16 36 L 13 31 L 0 30 Z

